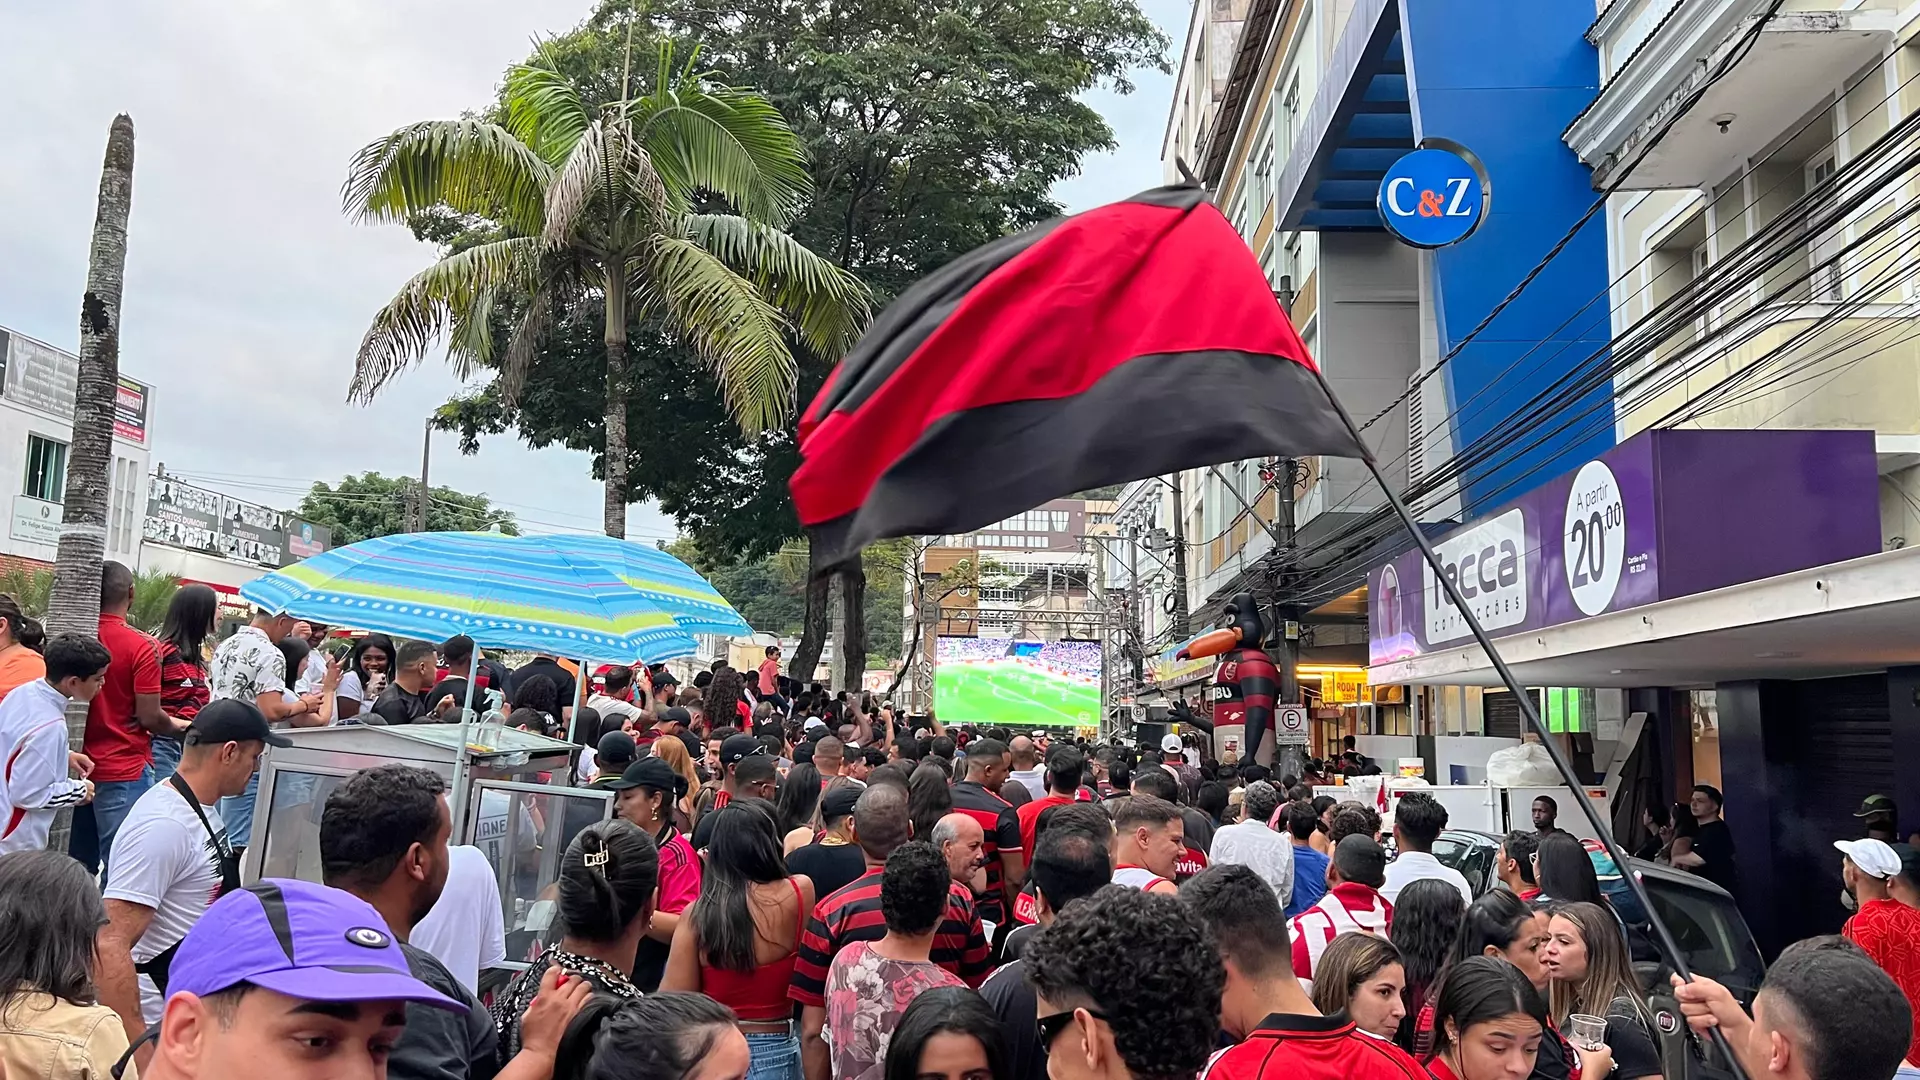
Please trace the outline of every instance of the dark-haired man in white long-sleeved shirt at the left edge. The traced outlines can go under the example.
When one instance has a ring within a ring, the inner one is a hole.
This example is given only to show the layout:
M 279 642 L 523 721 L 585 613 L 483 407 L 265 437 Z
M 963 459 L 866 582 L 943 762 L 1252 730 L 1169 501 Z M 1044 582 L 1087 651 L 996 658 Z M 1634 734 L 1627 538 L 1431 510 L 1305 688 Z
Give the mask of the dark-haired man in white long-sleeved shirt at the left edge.
M 92 701 L 108 678 L 113 653 L 86 634 L 54 634 L 46 642 L 46 678 L 15 686 L 0 701 L 0 853 L 38 851 L 60 807 L 86 805 L 94 784 L 92 761 L 67 751 L 67 701 Z M 67 771 L 81 773 L 79 780 Z

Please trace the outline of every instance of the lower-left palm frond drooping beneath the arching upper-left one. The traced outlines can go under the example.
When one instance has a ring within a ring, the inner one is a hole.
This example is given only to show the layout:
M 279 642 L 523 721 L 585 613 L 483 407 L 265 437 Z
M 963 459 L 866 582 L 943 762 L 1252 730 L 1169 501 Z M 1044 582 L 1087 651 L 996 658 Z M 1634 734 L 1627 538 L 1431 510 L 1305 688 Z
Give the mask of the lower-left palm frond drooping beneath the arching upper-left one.
M 463 323 L 459 346 L 472 346 L 478 334 L 476 311 L 501 290 L 530 286 L 538 261 L 540 240 L 515 236 L 457 252 L 413 275 L 372 317 L 361 338 L 348 400 L 371 402 L 388 380 L 419 363 L 455 321 L 455 313 Z M 470 357 L 455 357 L 457 363 L 461 359 Z

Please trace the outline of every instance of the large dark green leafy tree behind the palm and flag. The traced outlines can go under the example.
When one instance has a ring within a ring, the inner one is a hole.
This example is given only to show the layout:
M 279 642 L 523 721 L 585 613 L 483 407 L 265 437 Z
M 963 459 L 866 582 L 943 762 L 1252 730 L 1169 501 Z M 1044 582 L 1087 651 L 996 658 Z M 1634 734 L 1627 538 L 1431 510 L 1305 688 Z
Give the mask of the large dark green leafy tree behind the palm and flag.
M 1083 100 L 1089 88 L 1129 90 L 1135 67 L 1165 69 L 1165 37 L 1137 0 L 1037 0 L 981 6 L 962 0 L 902 4 L 845 0 L 831 8 L 764 4 L 714 8 L 695 0 L 605 0 L 568 54 L 582 81 L 618 79 L 614 42 L 634 17 L 676 40 L 697 40 L 720 77 L 760 88 L 804 140 L 812 200 L 787 233 L 889 300 L 956 256 L 1041 223 L 1060 206 L 1050 192 L 1091 152 L 1114 146 L 1108 123 Z M 605 423 L 580 394 L 591 384 L 584 350 L 601 313 L 574 313 L 538 348 L 518 394 L 503 379 L 451 402 L 444 423 L 467 442 L 516 430 L 534 446 L 566 444 L 597 455 L 607 473 Z M 630 498 L 659 500 L 703 552 L 762 557 L 801 536 L 787 498 L 799 463 L 791 429 L 739 440 L 726 427 L 722 386 L 697 373 L 670 334 L 636 323 L 626 430 Z M 659 350 L 659 356 L 649 356 Z M 799 400 L 826 379 L 826 363 L 799 361 Z M 499 367 L 490 363 L 490 367 Z M 641 446 L 645 442 L 645 446 Z M 618 446 L 618 444 L 616 444 Z M 618 457 L 618 452 L 614 454 Z M 826 567 L 816 567 L 824 571 Z M 833 569 L 843 603 L 864 611 L 870 567 Z M 897 586 L 876 582 L 897 613 Z M 828 628 L 824 577 L 806 590 L 806 619 L 791 671 L 812 673 Z M 881 634 L 868 617 L 849 632 Z M 858 646 L 858 648 L 856 648 Z M 883 644 L 879 648 L 885 648 Z M 841 642 L 849 657 L 860 642 Z

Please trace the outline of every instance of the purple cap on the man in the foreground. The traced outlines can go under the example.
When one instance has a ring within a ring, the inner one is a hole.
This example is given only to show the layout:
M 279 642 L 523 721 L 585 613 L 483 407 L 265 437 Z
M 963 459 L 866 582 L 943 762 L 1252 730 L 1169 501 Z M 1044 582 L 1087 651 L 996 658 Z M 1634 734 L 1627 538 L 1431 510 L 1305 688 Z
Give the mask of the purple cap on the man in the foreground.
M 205 997 L 242 982 L 303 1001 L 419 1001 L 467 1011 L 413 978 L 407 955 L 371 903 L 284 878 L 217 899 L 180 942 L 167 992 Z

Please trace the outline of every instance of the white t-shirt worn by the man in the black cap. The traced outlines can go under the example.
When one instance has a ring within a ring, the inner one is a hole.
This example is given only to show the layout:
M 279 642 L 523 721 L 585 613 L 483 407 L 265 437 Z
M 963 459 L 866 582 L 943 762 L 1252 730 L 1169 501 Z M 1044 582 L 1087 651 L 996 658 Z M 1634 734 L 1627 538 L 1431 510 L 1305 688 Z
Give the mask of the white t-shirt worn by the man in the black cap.
M 200 813 L 215 834 L 227 836 L 217 805 L 202 803 Z M 113 834 L 113 878 L 106 890 L 108 899 L 154 909 L 146 934 L 132 945 L 132 961 L 146 963 L 184 938 L 213 907 L 219 888 L 219 851 L 194 809 L 173 784 L 148 788 Z M 142 974 L 140 1013 L 148 1024 L 159 1022 L 161 1005 L 159 988 Z

